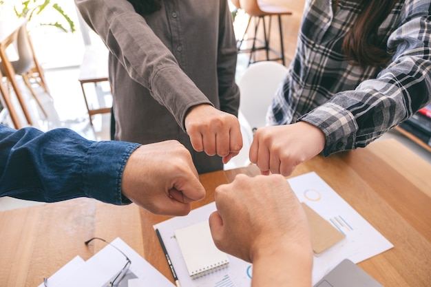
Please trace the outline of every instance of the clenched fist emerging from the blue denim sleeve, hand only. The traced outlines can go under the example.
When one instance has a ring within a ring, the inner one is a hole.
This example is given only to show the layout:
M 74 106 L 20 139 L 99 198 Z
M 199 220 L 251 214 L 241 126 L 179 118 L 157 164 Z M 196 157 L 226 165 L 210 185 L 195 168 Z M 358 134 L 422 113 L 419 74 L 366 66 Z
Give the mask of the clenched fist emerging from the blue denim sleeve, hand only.
M 129 200 L 160 215 L 187 215 L 191 202 L 205 196 L 189 151 L 176 140 L 138 147 L 127 160 L 121 189 Z

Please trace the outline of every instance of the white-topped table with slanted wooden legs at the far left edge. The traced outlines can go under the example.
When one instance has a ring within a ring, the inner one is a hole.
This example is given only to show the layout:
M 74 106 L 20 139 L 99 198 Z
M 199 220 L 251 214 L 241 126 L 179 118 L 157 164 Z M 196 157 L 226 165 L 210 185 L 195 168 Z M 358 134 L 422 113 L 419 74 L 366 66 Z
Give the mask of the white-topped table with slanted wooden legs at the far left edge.
M 21 105 L 21 109 L 23 110 L 25 119 L 27 120 L 29 125 L 32 125 L 32 119 L 25 105 L 25 101 L 24 101 L 23 95 L 21 94 L 21 90 L 19 89 L 17 80 L 15 79 L 14 68 L 12 67 L 12 63 L 10 63 L 8 56 L 6 54 L 6 48 L 10 44 L 14 43 L 14 41 L 17 39 L 17 34 L 19 29 L 26 23 L 27 21 L 25 19 L 18 19 L 16 21 L 5 21 L 5 20 L 0 21 L 0 59 L 1 59 L 1 65 L 3 65 L 3 69 L 6 72 L 6 75 L 1 75 L 0 73 L 0 76 L 8 77 L 8 81 L 10 81 L 10 84 L 12 85 L 14 92 L 19 100 L 19 104 Z M 21 128 L 22 124 L 19 122 L 17 112 L 14 110 L 14 107 L 12 106 L 8 88 L 5 87 L 3 83 L 1 83 L 0 92 L 1 94 L 3 94 L 3 98 L 6 102 L 6 107 L 8 108 L 10 117 L 12 118 L 12 123 L 14 123 L 15 128 L 17 129 Z

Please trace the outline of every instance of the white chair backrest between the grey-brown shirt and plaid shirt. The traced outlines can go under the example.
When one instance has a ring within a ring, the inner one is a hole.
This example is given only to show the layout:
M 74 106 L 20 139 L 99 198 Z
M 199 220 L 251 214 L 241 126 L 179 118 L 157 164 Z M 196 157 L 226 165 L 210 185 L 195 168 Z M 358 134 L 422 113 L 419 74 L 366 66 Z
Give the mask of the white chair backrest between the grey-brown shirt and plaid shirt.
M 287 67 L 280 63 L 262 61 L 250 65 L 240 78 L 240 111 L 253 133 L 266 125 L 266 111 L 287 71 Z

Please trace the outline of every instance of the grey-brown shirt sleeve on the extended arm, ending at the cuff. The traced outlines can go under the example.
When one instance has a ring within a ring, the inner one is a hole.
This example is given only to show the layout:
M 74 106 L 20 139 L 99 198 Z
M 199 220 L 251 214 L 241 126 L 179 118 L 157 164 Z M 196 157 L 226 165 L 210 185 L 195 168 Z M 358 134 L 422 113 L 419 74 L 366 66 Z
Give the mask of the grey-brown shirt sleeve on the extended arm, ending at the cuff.
M 85 22 L 101 36 L 129 76 L 149 89 L 182 129 L 185 130 L 189 107 L 213 105 L 127 0 L 75 0 L 75 3 Z

